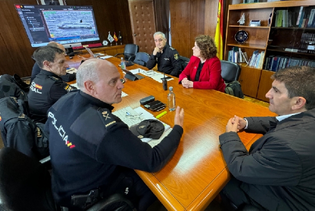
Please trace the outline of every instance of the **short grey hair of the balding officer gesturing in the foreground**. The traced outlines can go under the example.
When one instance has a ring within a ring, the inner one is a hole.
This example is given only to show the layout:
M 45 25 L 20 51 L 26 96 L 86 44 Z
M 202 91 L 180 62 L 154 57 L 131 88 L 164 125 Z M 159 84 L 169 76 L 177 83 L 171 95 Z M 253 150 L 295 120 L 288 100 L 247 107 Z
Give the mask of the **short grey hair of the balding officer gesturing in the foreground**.
M 84 88 L 84 82 L 92 81 L 98 83 L 99 74 L 98 74 L 99 63 L 97 61 L 91 61 L 87 63 L 82 63 L 77 71 L 77 84 L 80 89 Z

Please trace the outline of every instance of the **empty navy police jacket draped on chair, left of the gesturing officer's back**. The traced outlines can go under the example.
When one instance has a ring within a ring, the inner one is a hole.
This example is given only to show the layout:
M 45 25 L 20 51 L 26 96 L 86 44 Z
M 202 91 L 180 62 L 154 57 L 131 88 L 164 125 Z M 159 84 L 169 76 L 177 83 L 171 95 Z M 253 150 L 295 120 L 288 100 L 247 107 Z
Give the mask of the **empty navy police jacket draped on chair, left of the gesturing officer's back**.
M 23 100 L 16 97 L 0 99 L 0 130 L 3 144 L 37 160 L 49 156 L 48 135 L 44 124 L 35 124 L 27 116 Z

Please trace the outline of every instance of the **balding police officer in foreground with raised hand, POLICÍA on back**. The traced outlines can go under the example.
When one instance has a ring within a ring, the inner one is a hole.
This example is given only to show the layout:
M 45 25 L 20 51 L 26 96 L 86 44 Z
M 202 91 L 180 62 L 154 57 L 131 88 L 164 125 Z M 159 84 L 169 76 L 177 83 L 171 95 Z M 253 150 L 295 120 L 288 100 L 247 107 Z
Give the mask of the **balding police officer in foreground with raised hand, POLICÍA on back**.
M 117 192 L 138 211 L 156 200 L 133 169 L 156 172 L 167 163 L 183 133 L 184 111 L 177 108 L 172 131 L 152 148 L 111 113 L 112 104 L 121 102 L 124 85 L 119 79 L 113 64 L 90 59 L 77 71 L 80 90 L 60 98 L 48 111 L 52 192 L 61 206 L 81 210 L 89 207 L 85 202 Z M 84 203 L 71 201 L 71 196 Z

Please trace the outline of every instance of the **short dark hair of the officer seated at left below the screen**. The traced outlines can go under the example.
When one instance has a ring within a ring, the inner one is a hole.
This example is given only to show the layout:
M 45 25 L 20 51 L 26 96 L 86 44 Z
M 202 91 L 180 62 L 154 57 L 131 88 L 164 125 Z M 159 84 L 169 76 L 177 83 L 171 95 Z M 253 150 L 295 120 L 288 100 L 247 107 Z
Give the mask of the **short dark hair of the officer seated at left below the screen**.
M 63 50 L 58 47 L 46 45 L 37 48 L 34 51 L 32 58 L 34 58 L 38 66 L 43 69 L 44 61 L 53 62 L 56 54 L 63 54 Z

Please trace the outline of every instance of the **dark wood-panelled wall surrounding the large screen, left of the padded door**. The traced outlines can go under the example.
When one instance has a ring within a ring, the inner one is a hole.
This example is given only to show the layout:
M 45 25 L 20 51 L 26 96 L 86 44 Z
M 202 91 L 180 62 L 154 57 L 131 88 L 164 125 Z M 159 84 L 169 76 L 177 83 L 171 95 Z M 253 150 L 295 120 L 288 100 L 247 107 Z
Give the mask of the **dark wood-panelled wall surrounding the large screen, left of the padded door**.
M 67 5 L 92 5 L 100 41 L 107 39 L 108 31 L 119 31 L 123 44 L 133 43 L 127 0 L 65 0 Z M 21 77 L 30 76 L 36 48 L 26 36 L 26 32 L 14 8 L 14 4 L 37 4 L 37 0 L 0 1 L 0 75 L 14 73 Z M 115 42 L 113 42 L 115 44 Z M 118 42 L 120 44 L 120 42 Z

